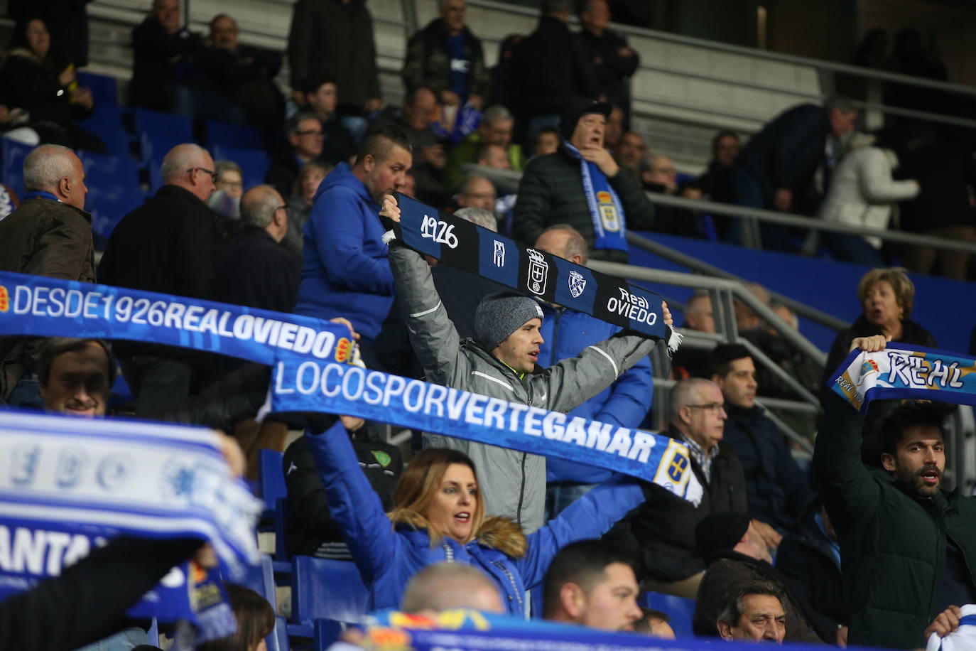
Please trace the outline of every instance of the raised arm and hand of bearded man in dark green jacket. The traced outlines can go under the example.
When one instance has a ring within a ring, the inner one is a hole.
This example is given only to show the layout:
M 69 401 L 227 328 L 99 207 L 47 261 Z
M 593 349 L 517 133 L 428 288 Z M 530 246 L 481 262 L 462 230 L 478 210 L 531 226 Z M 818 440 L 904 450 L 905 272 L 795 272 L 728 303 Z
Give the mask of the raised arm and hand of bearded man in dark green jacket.
M 851 346 L 883 349 L 884 337 L 855 339 Z M 880 488 L 861 462 L 864 418 L 834 391 L 825 391 L 821 403 L 824 421 L 817 434 L 813 470 L 834 528 L 843 533 L 874 512 Z

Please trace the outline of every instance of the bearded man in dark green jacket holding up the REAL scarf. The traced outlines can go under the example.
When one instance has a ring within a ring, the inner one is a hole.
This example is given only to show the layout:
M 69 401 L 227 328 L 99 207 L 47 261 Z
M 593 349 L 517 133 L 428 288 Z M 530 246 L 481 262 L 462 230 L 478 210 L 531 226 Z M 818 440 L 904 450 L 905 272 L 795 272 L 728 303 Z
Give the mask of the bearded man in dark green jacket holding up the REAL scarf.
M 878 335 L 851 349 L 884 346 Z M 851 645 L 923 646 L 939 613 L 976 601 L 976 500 L 942 490 L 944 413 L 900 406 L 881 428 L 881 468 L 869 468 L 864 419 L 834 393 L 824 397 L 813 465 L 840 540 Z

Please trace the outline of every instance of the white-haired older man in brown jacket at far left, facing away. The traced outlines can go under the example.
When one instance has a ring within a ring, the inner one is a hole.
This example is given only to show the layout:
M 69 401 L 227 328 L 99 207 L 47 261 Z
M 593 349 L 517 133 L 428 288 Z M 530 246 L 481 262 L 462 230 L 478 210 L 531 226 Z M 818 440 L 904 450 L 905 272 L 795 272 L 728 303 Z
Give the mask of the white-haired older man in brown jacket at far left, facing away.
M 0 221 L 0 270 L 95 282 L 92 216 L 85 169 L 73 151 L 42 144 L 23 159 L 27 193 Z M 40 407 L 33 374 L 38 340 L 0 339 L 0 402 Z

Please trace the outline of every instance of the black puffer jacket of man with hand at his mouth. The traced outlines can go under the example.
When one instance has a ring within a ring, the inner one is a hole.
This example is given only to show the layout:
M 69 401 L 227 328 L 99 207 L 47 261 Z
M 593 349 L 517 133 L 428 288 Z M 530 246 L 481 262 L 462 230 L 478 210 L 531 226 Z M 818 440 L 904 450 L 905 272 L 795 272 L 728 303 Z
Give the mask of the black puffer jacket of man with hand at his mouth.
M 625 224 L 630 230 L 646 230 L 654 221 L 654 206 L 630 174 L 621 170 L 607 182 L 624 207 Z M 553 224 L 569 224 L 580 231 L 592 249 L 595 241 L 590 205 L 583 191 L 580 161 L 566 148 L 534 158 L 525 166 L 518 184 L 518 200 L 512 221 L 512 236 L 532 243 Z M 627 252 L 617 249 L 590 251 L 593 260 L 626 263 Z

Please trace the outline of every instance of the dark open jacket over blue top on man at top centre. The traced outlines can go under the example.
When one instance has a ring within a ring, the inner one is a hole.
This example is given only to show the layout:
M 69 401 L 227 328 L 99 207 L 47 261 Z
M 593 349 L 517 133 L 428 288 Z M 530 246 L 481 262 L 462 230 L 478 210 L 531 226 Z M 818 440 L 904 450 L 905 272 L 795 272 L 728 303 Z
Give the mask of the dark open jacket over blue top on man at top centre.
M 462 32 L 468 73 L 465 97 L 488 94 L 488 70 L 485 69 L 481 40 L 465 27 Z M 410 37 L 407 57 L 403 61 L 403 83 L 408 93 L 426 86 L 440 95 L 451 88 L 451 56 L 447 52 L 447 26 L 443 19 L 431 20 L 426 27 Z

